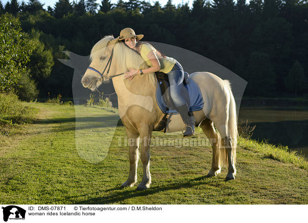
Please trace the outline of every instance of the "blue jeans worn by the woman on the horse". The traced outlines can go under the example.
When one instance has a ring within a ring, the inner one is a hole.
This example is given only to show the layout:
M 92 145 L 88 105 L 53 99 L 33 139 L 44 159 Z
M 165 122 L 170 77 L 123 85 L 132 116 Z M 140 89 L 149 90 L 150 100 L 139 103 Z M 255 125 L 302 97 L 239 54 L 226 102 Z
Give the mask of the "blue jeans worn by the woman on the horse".
M 184 71 L 182 65 L 176 61 L 172 70 L 167 73 L 170 83 L 171 98 L 176 107 L 186 104 L 184 98 L 181 96 L 181 87 L 184 79 Z

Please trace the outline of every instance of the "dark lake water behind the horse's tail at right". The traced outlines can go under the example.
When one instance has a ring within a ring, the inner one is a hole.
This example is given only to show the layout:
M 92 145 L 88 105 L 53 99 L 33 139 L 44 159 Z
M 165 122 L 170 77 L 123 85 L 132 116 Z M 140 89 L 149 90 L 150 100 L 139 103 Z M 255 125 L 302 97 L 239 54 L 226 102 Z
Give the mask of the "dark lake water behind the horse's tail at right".
M 251 138 L 288 146 L 308 159 L 308 107 L 240 107 L 239 120 L 256 125 Z

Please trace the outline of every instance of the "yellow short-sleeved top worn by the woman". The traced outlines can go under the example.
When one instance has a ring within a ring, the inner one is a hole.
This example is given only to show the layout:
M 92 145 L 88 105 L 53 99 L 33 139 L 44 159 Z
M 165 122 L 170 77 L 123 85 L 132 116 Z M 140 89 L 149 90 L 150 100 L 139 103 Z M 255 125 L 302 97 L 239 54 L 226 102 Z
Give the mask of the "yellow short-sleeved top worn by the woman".
M 176 60 L 174 58 L 168 57 L 168 56 L 162 57 L 160 55 L 160 53 L 158 53 L 157 50 L 154 47 L 152 47 L 149 44 L 144 43 L 144 44 L 141 45 L 140 54 L 141 54 L 142 58 L 145 60 L 145 63 L 146 63 L 147 66 L 149 66 L 149 67 L 152 66 L 152 63 L 150 62 L 149 58 L 147 57 L 147 55 L 150 51 L 154 51 L 155 54 L 158 57 L 159 63 L 161 65 L 161 69 L 159 70 L 160 72 L 169 73 L 172 70 L 172 68 L 175 66 Z

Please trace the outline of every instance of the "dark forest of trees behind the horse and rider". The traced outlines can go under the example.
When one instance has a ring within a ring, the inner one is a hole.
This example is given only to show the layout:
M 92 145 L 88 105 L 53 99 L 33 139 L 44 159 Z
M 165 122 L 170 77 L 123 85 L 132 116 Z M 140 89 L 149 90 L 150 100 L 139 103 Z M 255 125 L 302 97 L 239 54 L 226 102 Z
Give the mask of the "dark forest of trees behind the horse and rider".
M 0 2 L 0 92 L 22 100 L 72 97 L 73 70 L 57 58 L 87 56 L 103 36 L 125 27 L 149 42 L 203 55 L 248 82 L 245 97 L 308 95 L 308 2 L 303 0 L 37 0 Z M 168 52 L 163 52 L 168 55 Z M 185 68 L 184 68 L 185 69 Z

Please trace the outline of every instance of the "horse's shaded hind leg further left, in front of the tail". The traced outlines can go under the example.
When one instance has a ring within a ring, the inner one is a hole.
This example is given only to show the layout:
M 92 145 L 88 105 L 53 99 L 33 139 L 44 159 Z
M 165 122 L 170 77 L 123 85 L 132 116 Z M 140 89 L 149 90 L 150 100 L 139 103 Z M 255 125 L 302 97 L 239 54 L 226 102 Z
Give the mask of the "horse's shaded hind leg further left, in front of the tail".
M 213 160 L 211 164 L 211 169 L 208 172 L 207 177 L 217 176 L 217 174 L 219 174 L 221 171 L 221 153 L 218 149 L 218 142 L 220 140 L 220 137 L 215 131 L 213 121 L 211 121 L 210 119 L 204 119 L 200 127 L 202 128 L 204 134 L 208 137 L 211 147 L 213 149 Z

